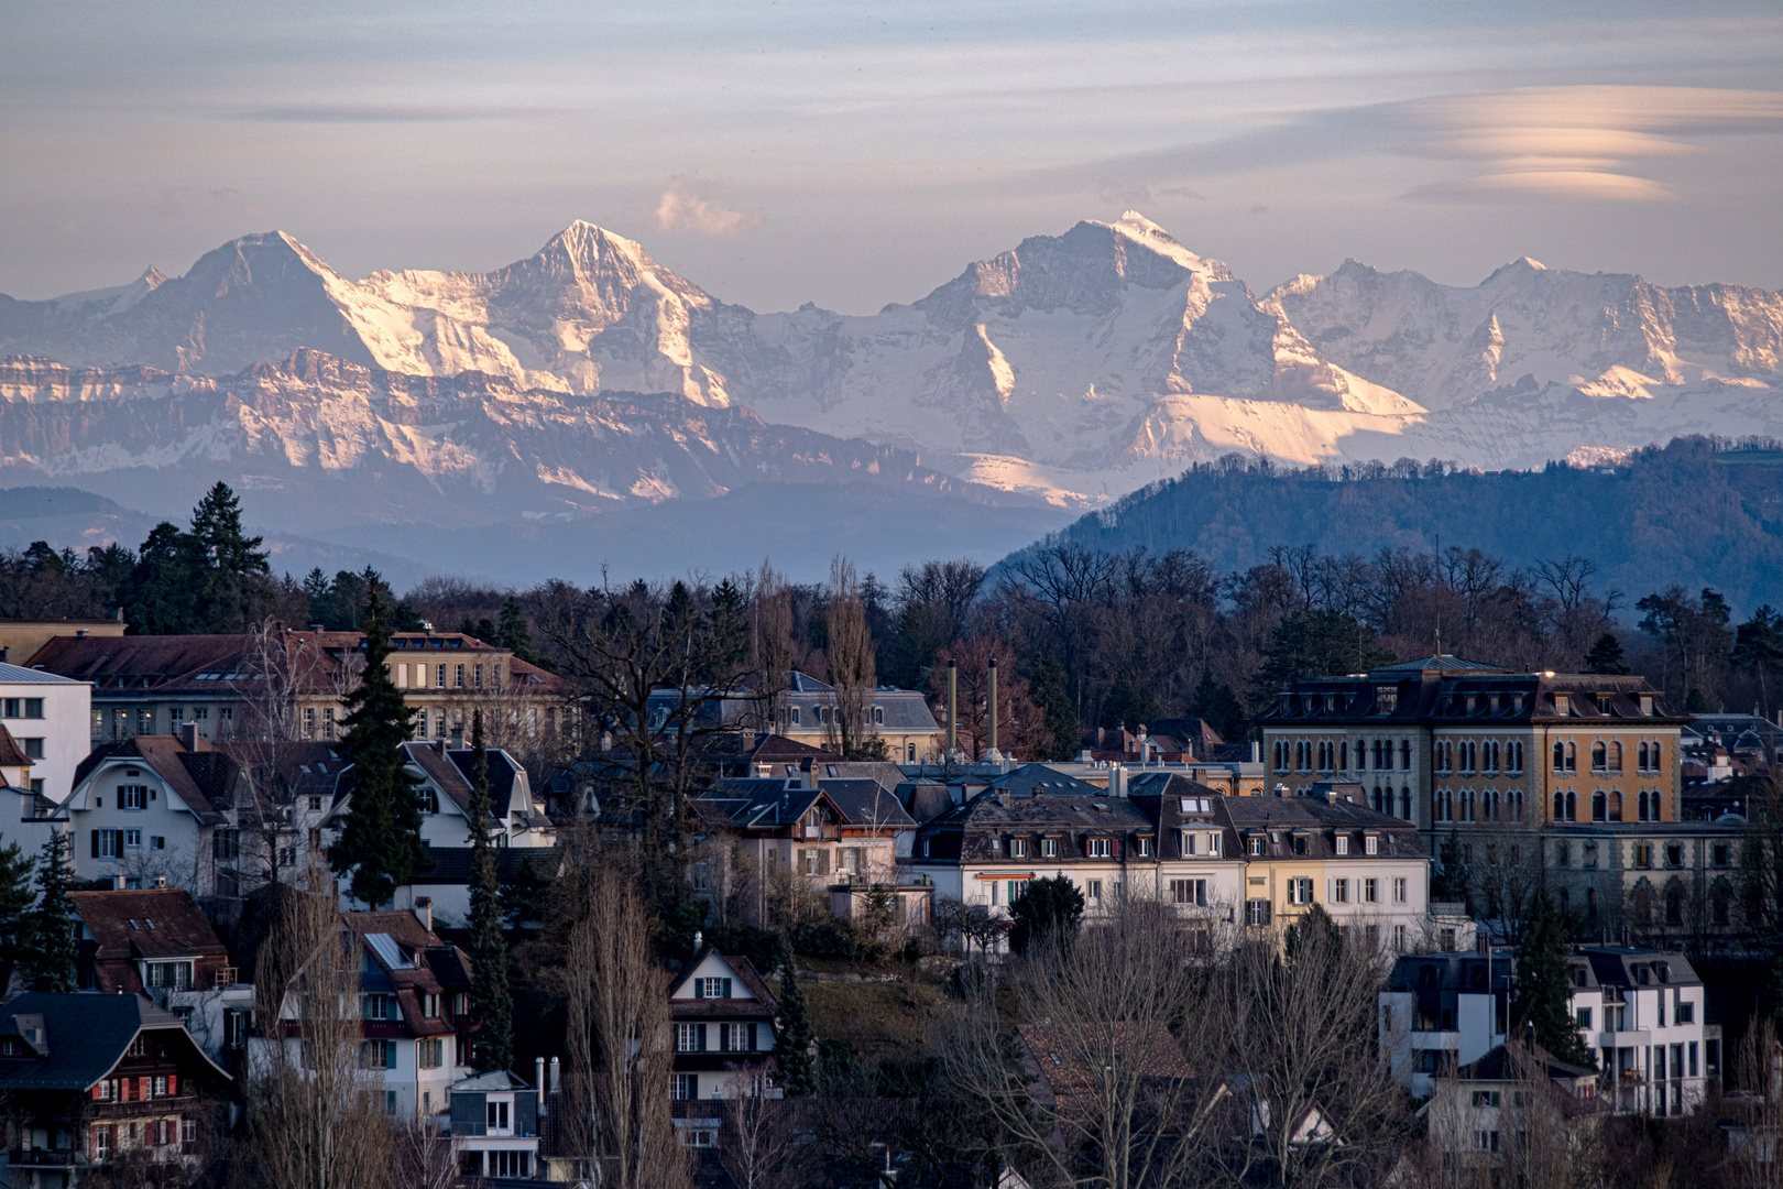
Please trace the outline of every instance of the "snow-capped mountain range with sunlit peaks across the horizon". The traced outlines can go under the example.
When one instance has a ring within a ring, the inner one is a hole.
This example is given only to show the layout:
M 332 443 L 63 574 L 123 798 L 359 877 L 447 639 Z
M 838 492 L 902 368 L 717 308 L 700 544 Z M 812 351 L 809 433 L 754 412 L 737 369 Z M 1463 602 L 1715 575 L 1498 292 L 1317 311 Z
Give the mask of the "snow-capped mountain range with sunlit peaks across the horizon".
M 364 280 L 271 232 L 178 278 L 0 298 L 0 357 L 34 357 L 4 387 L 0 467 L 70 483 L 196 458 L 337 478 L 376 460 L 421 488 L 587 512 L 727 488 L 635 442 L 644 421 L 667 440 L 695 410 L 747 408 L 756 435 L 799 426 L 850 458 L 893 447 L 899 474 L 1080 508 L 1232 451 L 1501 469 L 1678 433 L 1783 437 L 1779 353 L 1769 291 L 1526 258 L 1466 289 L 1350 260 L 1257 296 L 1136 212 L 1025 239 L 872 316 L 727 305 L 590 223 L 494 273 Z M 48 378 L 41 360 L 75 371 Z M 168 401 L 200 394 L 203 419 L 173 417 Z M 86 410 L 27 415 L 64 401 Z

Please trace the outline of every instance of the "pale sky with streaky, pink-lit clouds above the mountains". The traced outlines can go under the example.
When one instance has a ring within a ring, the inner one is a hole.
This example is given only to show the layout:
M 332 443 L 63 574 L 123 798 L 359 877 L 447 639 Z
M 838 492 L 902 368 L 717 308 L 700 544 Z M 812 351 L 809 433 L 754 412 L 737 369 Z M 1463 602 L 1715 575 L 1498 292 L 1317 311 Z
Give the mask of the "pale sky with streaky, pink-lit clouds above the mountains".
M 571 219 L 756 310 L 1134 207 L 1264 291 L 1530 255 L 1783 289 L 1772 4 L 0 5 L 0 292 L 291 232 L 348 276 Z

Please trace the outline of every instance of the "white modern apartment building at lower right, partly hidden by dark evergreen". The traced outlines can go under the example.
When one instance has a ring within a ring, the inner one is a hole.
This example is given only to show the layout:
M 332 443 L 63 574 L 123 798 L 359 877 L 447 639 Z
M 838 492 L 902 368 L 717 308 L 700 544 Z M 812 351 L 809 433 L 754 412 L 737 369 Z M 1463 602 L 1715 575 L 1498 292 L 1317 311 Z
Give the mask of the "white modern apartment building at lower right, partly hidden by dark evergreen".
M 1705 1021 L 1703 980 L 1683 954 L 1578 947 L 1567 1009 L 1598 1055 L 1598 1096 L 1621 1114 L 1696 1111 L 1721 1077 L 1721 1027 Z M 1380 993 L 1380 1043 L 1417 1098 L 1507 1043 L 1514 955 L 1398 959 Z

